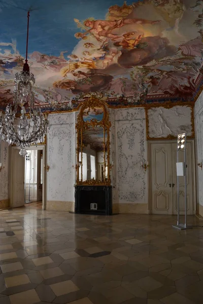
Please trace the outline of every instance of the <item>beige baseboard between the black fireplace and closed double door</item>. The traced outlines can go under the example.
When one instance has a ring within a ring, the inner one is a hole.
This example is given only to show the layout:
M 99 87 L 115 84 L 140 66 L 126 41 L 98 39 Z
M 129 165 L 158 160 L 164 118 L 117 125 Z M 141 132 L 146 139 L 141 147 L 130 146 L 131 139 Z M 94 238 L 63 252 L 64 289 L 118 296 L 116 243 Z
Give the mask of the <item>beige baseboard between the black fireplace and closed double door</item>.
M 148 214 L 148 204 L 113 204 L 113 213 Z

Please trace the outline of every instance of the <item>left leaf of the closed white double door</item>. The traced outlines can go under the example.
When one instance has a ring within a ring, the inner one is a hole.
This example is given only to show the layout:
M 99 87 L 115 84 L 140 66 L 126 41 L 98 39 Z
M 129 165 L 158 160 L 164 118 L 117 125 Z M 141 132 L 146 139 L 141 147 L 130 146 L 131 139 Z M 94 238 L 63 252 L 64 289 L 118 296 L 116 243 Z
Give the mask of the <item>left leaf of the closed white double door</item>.
M 172 155 L 170 143 L 150 144 L 152 214 L 172 214 Z

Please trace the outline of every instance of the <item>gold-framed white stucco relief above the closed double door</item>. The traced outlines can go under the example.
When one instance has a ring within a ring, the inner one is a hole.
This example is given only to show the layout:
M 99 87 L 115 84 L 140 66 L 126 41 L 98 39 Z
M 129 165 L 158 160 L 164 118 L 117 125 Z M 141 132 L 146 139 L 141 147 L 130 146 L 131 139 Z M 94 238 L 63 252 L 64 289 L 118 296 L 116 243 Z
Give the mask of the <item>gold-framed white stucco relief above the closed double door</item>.
M 166 138 L 186 132 L 192 136 L 192 109 L 189 106 L 172 108 L 152 107 L 147 110 L 148 136 L 150 138 Z

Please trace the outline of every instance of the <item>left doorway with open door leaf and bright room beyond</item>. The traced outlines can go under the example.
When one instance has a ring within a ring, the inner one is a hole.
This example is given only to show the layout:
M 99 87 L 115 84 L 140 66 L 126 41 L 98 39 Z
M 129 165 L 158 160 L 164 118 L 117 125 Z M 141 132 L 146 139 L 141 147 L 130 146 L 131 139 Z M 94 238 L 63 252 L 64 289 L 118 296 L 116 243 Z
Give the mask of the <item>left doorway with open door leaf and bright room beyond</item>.
M 26 149 L 19 155 L 19 148 L 12 147 L 11 207 L 45 210 L 45 146 Z

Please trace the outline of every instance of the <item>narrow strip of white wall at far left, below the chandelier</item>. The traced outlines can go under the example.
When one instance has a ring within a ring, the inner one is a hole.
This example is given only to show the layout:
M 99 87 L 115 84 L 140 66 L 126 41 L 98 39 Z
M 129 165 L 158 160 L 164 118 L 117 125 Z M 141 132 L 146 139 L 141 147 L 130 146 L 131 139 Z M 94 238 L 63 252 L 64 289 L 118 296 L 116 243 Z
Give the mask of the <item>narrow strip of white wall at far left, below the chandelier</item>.
M 0 171 L 0 209 L 9 205 L 9 161 L 10 147 L 7 142 L 2 141 L 2 171 Z

